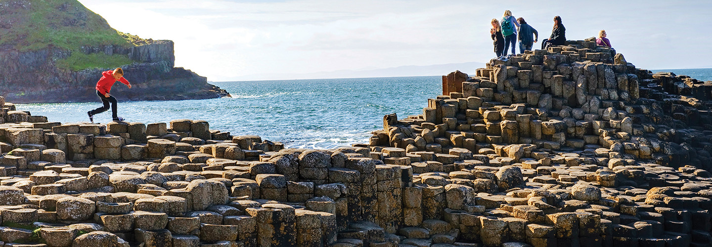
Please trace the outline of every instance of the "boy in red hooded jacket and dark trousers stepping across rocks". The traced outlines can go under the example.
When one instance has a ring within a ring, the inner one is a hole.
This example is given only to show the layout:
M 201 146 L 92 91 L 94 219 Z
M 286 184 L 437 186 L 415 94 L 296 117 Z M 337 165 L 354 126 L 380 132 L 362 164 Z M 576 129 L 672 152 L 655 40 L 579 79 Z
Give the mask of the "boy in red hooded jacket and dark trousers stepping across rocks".
M 115 70 L 106 70 L 101 73 L 101 75 L 103 75 L 103 77 L 99 79 L 99 81 L 96 83 L 96 95 L 99 95 L 99 98 L 101 98 L 101 102 L 104 103 L 104 106 L 98 107 L 94 110 L 90 110 L 89 112 L 87 112 L 87 115 L 89 115 L 89 120 L 91 122 L 94 122 L 94 115 L 109 110 L 109 103 L 111 103 L 111 113 L 113 120 L 123 121 L 124 119 L 122 117 L 118 117 L 116 115 L 116 98 L 114 98 L 114 96 L 109 95 L 109 92 L 111 91 L 111 86 L 114 85 L 117 80 L 129 86 L 129 88 L 131 88 L 131 83 L 129 83 L 128 80 L 123 78 L 124 70 L 122 70 L 121 68 L 116 68 Z

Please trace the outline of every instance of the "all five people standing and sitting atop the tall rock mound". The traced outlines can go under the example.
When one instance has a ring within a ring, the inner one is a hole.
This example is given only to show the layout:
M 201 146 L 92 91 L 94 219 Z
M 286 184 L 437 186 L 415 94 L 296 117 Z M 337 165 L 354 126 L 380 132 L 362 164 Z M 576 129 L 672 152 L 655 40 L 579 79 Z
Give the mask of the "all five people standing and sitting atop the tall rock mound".
M 531 51 L 534 43 L 539 39 L 539 33 L 527 22 L 519 17 L 514 18 L 512 11 L 504 11 L 501 20 L 492 19 L 492 28 L 490 34 L 494 41 L 494 52 L 497 57 L 507 56 L 508 50 L 512 48 L 512 55 L 516 54 L 517 41 L 519 41 L 519 53 Z M 545 38 L 541 43 L 541 48 L 546 49 L 549 46 L 563 46 L 566 43 L 566 28 L 561 23 L 560 16 L 554 16 L 554 27 L 551 31 L 551 36 Z M 598 46 L 611 47 L 610 41 L 606 38 L 606 31 L 601 30 L 596 38 Z

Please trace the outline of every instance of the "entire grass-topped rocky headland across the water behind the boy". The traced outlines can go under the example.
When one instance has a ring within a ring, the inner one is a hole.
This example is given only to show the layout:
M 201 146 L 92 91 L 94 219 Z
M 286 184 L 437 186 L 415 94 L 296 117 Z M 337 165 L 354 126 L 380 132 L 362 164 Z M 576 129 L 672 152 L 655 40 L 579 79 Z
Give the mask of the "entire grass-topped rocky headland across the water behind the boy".
M 58 14 L 43 14 L 48 9 Z M 112 94 L 119 100 L 229 96 L 225 90 L 208 84 L 206 78 L 184 68 L 174 68 L 173 41 L 129 41 L 125 35 L 112 33 L 116 31 L 101 16 L 85 9 L 78 1 L 0 0 L 0 13 L 3 14 L 0 17 L 3 23 L 0 25 L 0 95 L 6 95 L 14 103 L 97 100 L 94 88 L 101 72 L 115 67 L 124 69 L 125 78 L 133 86 L 129 90 L 125 85 L 115 84 Z M 62 15 L 63 19 L 54 20 Z M 38 21 L 27 16 L 45 16 L 46 19 Z M 43 32 L 47 31 L 43 28 L 50 31 Z M 106 28 L 110 29 L 108 34 Z M 47 37 L 28 38 L 43 35 Z M 56 36 L 66 39 L 56 41 L 53 39 Z M 95 38 L 97 36 L 102 38 Z M 77 42 L 71 42 L 73 40 Z M 96 61 L 91 62 L 89 58 Z M 113 62 L 106 65 L 104 61 Z

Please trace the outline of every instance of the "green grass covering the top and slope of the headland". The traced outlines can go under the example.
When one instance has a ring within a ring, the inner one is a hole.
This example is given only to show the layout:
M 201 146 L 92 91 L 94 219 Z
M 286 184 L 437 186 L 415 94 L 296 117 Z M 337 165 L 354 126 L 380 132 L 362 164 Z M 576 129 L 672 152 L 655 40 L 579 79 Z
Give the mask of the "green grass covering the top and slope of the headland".
M 76 0 L 0 0 L 0 50 L 37 51 L 62 48 L 69 58 L 56 61 L 58 68 L 83 70 L 111 68 L 132 63 L 125 55 L 82 53 L 82 46 L 130 48 L 150 42 L 121 33 Z

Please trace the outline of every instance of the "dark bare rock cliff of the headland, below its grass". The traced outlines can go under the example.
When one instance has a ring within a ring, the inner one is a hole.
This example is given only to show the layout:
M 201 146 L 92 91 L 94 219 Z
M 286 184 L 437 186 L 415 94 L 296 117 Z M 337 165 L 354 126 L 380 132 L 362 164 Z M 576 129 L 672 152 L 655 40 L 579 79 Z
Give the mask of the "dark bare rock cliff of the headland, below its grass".
M 187 100 L 229 96 L 225 90 L 208 84 L 204 78 L 184 68 L 174 68 L 173 42 L 159 41 L 133 48 L 85 48 L 94 53 L 127 55 L 138 63 L 122 66 L 128 89 L 116 83 L 112 94 L 120 100 Z M 0 94 L 14 103 L 86 102 L 97 99 L 96 82 L 110 68 L 80 71 L 57 68 L 54 61 L 72 52 L 58 48 L 19 52 L 0 51 Z

